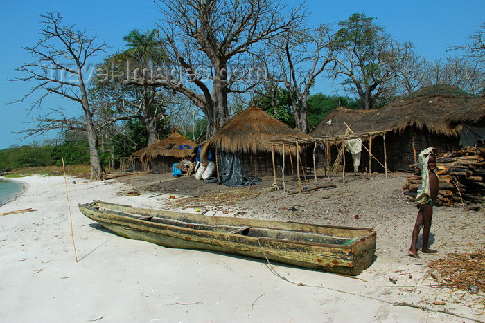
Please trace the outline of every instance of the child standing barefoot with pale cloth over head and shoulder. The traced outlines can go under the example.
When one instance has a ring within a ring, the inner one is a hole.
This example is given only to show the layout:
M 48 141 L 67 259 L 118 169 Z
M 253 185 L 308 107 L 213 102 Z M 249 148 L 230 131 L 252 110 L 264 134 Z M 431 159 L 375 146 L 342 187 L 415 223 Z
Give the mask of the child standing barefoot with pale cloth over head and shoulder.
M 418 217 L 412 230 L 411 248 L 409 255 L 420 258 L 416 244 L 418 243 L 419 232 L 423 228 L 423 253 L 436 253 L 436 250 L 427 248 L 430 239 L 431 220 L 433 217 L 433 202 L 438 196 L 439 178 L 434 173 L 436 170 L 436 155 L 433 153 L 434 148 L 426 148 L 419 154 L 419 168 L 421 169 L 422 183 L 418 188 L 416 204 L 418 206 Z

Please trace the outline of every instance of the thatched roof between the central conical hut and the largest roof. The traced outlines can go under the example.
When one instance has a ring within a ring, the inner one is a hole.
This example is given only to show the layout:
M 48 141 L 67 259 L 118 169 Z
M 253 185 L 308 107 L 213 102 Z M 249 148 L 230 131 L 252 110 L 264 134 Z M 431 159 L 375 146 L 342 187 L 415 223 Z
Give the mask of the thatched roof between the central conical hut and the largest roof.
M 346 133 L 349 124 L 352 131 L 355 133 L 363 133 L 368 131 L 366 127 L 362 127 L 362 118 L 375 113 L 376 110 L 362 110 L 362 109 L 347 109 L 344 107 L 337 107 L 330 111 L 326 117 L 312 130 L 310 136 L 315 138 L 327 136 L 342 136 Z M 331 120 L 331 121 L 330 121 Z

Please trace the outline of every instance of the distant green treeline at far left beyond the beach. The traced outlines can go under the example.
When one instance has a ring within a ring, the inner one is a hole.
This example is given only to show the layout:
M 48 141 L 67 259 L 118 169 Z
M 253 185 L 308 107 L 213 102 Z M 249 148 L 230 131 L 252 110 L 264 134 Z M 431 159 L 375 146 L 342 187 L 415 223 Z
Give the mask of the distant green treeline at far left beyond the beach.
M 87 142 L 67 141 L 60 145 L 24 145 L 0 150 L 0 170 L 62 165 L 89 164 Z

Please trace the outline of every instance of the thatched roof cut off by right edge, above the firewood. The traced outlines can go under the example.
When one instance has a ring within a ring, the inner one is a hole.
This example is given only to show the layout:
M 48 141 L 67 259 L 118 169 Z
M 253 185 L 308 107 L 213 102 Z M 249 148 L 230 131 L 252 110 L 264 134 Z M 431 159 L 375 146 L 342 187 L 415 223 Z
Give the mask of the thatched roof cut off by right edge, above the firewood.
M 446 122 L 452 127 L 457 124 L 485 124 L 485 94 L 480 98 L 470 100 L 462 109 L 450 112 L 445 116 Z

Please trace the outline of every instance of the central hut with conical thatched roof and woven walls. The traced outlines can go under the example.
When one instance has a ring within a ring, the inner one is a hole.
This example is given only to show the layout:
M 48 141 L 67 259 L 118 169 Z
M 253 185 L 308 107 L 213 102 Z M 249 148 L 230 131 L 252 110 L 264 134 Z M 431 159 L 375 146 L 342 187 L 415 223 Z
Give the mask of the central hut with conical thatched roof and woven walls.
M 249 107 L 206 141 L 202 156 L 207 156 L 209 150 L 238 154 L 249 176 L 272 175 L 272 140 L 284 138 L 294 140 L 311 137 L 290 128 L 258 107 Z M 276 154 L 279 153 L 276 151 Z M 277 159 L 276 163 L 279 163 Z M 290 161 L 287 163 L 288 167 Z

